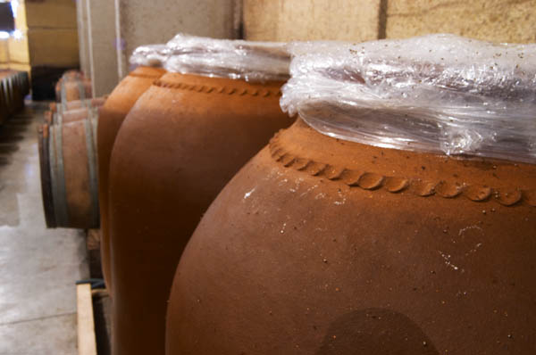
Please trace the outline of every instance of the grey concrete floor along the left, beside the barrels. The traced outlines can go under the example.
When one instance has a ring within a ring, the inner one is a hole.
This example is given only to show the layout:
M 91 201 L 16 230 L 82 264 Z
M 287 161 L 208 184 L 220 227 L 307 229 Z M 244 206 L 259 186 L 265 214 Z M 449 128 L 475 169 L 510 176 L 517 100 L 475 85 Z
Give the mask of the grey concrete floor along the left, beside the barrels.
M 88 277 L 81 231 L 46 229 L 37 127 L 46 105 L 0 126 L 0 355 L 76 354 L 75 281 Z

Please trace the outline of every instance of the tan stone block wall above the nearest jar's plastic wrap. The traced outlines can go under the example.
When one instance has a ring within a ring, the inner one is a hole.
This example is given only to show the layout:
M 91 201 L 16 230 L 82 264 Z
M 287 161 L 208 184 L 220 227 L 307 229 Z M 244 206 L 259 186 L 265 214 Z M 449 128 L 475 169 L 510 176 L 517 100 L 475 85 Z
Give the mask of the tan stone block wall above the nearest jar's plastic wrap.
M 452 33 L 536 42 L 536 0 L 244 0 L 247 39 L 366 41 Z

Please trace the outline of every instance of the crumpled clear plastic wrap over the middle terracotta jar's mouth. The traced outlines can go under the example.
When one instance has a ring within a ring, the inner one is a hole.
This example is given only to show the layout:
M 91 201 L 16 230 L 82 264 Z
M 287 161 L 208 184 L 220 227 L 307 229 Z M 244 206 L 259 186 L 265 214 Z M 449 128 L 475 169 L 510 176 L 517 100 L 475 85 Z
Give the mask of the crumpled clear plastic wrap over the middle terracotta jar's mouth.
M 261 82 L 289 78 L 290 55 L 284 43 L 179 34 L 168 46 L 172 51 L 165 64 L 168 71 Z

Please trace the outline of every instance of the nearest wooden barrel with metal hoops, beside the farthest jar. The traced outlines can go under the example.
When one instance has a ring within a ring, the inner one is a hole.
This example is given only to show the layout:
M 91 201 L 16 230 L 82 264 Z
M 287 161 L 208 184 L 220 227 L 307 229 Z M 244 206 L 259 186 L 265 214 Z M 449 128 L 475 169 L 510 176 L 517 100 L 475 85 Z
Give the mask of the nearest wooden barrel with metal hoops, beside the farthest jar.
M 86 118 L 39 128 L 39 161 L 47 227 L 99 226 L 96 125 L 97 110 Z

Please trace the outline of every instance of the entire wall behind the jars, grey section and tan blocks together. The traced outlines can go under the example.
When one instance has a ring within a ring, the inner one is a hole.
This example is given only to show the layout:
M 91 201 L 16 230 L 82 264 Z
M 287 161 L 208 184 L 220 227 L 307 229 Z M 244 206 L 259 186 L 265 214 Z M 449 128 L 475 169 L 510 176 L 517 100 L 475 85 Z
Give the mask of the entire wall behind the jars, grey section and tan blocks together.
M 110 92 L 129 72 L 129 56 L 138 45 L 164 43 L 178 32 L 239 37 L 237 23 L 241 23 L 243 37 L 264 41 L 361 42 L 447 32 L 498 42 L 536 42 L 536 0 L 78 0 L 77 3 L 78 27 L 84 31 L 79 33 L 80 62 L 93 78 L 96 95 Z

